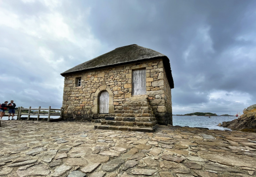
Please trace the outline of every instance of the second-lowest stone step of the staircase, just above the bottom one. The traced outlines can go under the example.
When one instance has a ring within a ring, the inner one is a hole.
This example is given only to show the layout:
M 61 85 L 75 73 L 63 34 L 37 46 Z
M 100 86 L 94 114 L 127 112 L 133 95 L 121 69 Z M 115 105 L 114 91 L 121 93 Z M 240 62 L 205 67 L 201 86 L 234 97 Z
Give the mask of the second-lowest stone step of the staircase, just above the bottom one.
M 137 121 L 114 121 L 114 120 L 101 120 L 102 125 L 114 126 L 138 126 L 138 127 L 152 127 L 157 124 L 156 120 L 150 122 L 137 122 Z

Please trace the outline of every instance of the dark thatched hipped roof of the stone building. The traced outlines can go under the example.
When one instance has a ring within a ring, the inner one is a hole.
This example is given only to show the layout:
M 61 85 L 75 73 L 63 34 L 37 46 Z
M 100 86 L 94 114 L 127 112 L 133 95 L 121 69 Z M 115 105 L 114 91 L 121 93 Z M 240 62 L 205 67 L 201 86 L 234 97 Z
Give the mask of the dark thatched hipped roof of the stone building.
M 163 59 L 165 71 L 168 77 L 168 81 L 171 88 L 174 88 L 172 71 L 170 66 L 169 59 L 152 49 L 138 46 L 136 44 L 128 45 L 124 47 L 118 47 L 106 54 L 103 54 L 99 57 L 86 61 L 84 63 L 78 64 L 73 68 L 61 73 L 62 76 L 69 74 L 96 70 L 110 66 L 123 65 L 138 61 L 151 60 L 151 59 Z

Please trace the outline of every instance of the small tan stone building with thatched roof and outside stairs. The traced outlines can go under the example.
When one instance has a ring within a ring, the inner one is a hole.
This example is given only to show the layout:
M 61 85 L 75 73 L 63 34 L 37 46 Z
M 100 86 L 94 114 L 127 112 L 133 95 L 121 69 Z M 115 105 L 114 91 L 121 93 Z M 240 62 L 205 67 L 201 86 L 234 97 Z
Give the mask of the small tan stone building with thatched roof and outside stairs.
M 174 82 L 170 61 L 159 52 L 119 47 L 61 75 L 65 120 L 101 119 L 96 122 L 134 128 L 172 124 Z

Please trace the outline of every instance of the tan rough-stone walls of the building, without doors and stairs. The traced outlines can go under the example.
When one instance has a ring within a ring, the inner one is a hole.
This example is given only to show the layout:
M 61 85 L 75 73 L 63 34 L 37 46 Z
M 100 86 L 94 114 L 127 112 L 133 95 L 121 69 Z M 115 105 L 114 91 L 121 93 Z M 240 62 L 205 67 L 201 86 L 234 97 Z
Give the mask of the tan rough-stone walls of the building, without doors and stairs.
M 91 120 L 105 116 L 120 117 L 125 114 L 125 110 L 120 109 L 120 106 L 125 105 L 132 96 L 132 70 L 140 68 L 146 68 L 146 96 L 155 117 L 161 124 L 165 123 L 166 118 L 172 124 L 171 89 L 162 59 L 65 76 L 63 118 Z M 81 77 L 81 86 L 76 87 L 78 77 Z M 107 90 L 110 95 L 110 112 L 107 115 L 98 114 L 99 95 L 103 90 Z

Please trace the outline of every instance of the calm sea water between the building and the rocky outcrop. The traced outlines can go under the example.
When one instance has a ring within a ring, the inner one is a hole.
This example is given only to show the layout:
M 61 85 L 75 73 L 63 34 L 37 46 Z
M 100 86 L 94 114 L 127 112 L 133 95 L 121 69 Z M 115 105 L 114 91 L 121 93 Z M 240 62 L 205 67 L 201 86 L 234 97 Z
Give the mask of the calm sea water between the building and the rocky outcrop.
M 219 123 L 223 121 L 231 121 L 236 117 L 225 117 L 225 116 L 173 116 L 173 125 L 179 126 L 189 126 L 189 127 L 204 127 L 209 129 L 218 129 L 218 130 L 229 130 L 229 128 L 224 128 L 218 126 Z

